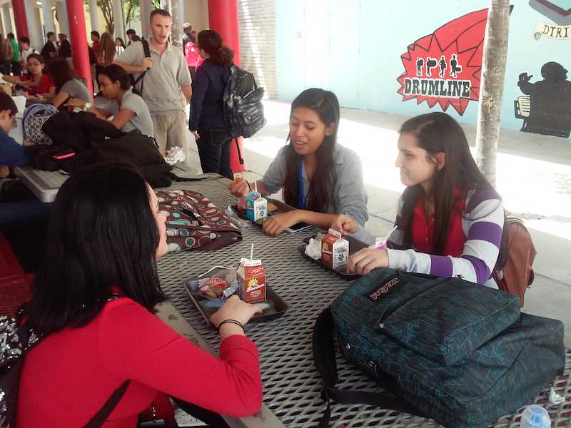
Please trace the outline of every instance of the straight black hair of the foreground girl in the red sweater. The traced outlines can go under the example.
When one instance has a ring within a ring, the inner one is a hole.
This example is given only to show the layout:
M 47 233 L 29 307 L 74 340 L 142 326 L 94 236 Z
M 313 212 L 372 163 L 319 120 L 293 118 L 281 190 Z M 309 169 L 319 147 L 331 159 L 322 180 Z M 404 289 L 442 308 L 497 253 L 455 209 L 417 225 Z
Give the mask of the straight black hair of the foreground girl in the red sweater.
M 71 175 L 56 197 L 49 251 L 34 281 L 33 327 L 47 333 L 87 325 L 111 287 L 153 311 L 165 300 L 155 264 L 159 239 L 145 179 L 133 165 Z

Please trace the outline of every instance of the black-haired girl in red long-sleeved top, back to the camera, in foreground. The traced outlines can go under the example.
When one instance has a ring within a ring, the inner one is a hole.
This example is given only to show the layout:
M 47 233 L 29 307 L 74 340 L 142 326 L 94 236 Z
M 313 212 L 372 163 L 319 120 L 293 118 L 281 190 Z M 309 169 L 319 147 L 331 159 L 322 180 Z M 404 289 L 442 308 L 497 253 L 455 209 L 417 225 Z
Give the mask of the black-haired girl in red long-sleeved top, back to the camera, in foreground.
M 259 411 L 258 350 L 241 327 L 258 308 L 231 297 L 211 317 L 219 358 L 155 315 L 166 300 L 156 272 L 168 249 L 165 221 L 132 165 L 94 165 L 61 187 L 29 304 L 32 327 L 46 337 L 24 360 L 19 428 L 83 427 L 126 380 L 103 427 L 136 427 L 158 392 L 231 416 Z

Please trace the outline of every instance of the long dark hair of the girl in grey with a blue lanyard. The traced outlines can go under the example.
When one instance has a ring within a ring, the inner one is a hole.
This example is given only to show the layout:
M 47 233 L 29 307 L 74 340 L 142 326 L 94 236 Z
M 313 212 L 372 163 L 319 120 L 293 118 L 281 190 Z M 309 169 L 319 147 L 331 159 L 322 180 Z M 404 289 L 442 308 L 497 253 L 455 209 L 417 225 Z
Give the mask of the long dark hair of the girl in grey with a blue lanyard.
M 315 153 L 317 165 L 309 183 L 307 209 L 323 213 L 327 210 L 333 191 L 333 151 L 337 143 L 339 128 L 339 101 L 335 93 L 323 89 L 305 89 L 291 103 L 291 113 L 298 107 L 306 107 L 315 111 L 325 126 L 333 124 L 331 135 L 325 136 L 323 143 Z M 295 153 L 291 136 L 288 136 L 285 149 L 285 180 L 283 198 L 288 205 L 298 207 L 298 175 L 300 156 Z

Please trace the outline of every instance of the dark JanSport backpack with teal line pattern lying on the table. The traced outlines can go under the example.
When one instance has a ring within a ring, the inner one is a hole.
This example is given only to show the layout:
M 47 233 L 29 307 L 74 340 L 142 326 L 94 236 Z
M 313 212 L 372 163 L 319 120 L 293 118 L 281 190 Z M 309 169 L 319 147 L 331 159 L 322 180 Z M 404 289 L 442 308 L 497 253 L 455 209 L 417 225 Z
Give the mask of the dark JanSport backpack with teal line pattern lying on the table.
M 333 327 L 345 357 L 387 392 L 335 389 Z M 329 399 L 486 427 L 565 367 L 562 322 L 520 314 L 507 292 L 392 269 L 360 278 L 320 314 L 313 356 L 328 402 L 319 427 L 328 426 Z

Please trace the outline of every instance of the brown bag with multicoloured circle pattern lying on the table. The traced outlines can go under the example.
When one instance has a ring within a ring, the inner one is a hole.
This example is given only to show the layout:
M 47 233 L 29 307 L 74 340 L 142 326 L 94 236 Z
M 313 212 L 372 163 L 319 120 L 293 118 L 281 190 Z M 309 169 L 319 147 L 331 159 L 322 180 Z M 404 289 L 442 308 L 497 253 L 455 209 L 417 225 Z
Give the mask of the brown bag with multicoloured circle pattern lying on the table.
M 168 252 L 218 250 L 242 240 L 241 230 L 206 196 L 192 190 L 156 192 L 166 215 Z

